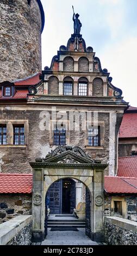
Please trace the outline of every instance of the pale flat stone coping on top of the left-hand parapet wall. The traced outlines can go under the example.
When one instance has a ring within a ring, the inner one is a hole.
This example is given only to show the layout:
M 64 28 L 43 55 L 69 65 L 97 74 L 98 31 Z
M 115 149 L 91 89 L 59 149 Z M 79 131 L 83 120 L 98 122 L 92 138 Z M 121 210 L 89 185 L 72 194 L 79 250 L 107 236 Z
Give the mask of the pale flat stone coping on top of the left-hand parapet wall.
M 30 221 L 32 215 L 20 215 L 0 224 L 0 245 L 7 245 Z

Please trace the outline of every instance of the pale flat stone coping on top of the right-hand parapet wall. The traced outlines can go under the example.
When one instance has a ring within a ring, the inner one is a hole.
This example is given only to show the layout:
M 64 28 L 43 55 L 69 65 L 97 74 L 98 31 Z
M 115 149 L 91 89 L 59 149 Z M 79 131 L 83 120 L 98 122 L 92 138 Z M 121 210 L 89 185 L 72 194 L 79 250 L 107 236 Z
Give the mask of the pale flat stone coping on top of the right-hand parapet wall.
M 108 222 L 112 225 L 116 225 L 117 227 L 132 231 L 137 233 L 137 222 L 129 221 L 125 218 L 113 217 L 113 216 L 105 216 L 105 222 Z

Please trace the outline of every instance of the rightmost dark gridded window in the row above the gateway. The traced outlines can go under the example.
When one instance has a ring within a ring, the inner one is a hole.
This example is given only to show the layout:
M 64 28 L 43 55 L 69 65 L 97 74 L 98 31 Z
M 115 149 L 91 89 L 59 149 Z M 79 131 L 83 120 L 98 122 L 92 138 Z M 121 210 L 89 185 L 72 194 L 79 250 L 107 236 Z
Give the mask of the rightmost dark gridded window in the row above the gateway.
M 88 129 L 89 146 L 100 146 L 100 126 L 90 126 Z

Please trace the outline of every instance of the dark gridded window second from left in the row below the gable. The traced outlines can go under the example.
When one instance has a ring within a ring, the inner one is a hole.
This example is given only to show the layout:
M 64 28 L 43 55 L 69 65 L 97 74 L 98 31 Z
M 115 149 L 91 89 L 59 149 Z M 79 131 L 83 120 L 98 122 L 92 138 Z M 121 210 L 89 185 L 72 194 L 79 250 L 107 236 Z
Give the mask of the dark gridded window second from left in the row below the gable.
M 14 126 L 14 145 L 24 145 L 24 125 Z

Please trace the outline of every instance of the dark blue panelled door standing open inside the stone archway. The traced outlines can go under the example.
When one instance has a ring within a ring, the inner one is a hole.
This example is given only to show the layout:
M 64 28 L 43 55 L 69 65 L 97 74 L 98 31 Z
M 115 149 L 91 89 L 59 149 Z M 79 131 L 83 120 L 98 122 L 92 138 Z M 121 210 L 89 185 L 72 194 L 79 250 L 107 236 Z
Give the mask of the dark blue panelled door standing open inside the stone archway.
M 50 214 L 73 214 L 76 208 L 76 182 L 66 178 L 53 182 L 47 197 Z

